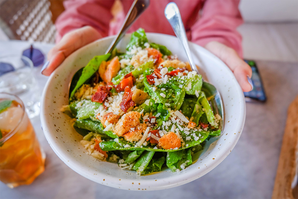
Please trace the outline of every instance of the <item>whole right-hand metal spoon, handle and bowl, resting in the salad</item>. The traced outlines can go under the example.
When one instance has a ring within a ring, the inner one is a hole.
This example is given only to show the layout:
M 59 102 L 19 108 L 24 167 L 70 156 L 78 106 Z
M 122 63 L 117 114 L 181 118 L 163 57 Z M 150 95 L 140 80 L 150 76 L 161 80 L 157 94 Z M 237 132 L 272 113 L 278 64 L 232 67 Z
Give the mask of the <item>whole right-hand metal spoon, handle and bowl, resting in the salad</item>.
M 182 44 L 185 53 L 187 55 L 188 62 L 190 64 L 190 67 L 192 70 L 197 72 L 199 74 L 198 68 L 196 67 L 195 63 L 193 62 L 193 59 L 191 57 L 191 52 L 190 48 L 188 46 L 188 41 L 184 29 L 184 25 L 182 23 L 181 15 L 178 9 L 178 6 L 171 2 L 167 4 L 165 10 L 164 10 L 164 15 L 166 16 L 167 20 L 171 24 L 177 38 L 179 38 L 180 43 Z M 213 113 L 216 115 L 220 115 L 222 118 L 222 121 L 219 124 L 219 129 L 221 131 L 224 130 L 224 106 L 222 102 L 221 95 L 219 92 L 216 90 L 216 88 L 212 85 L 207 83 L 206 81 L 203 80 L 203 86 L 202 86 L 202 91 L 206 94 L 206 98 L 210 101 L 211 104 L 211 109 Z

